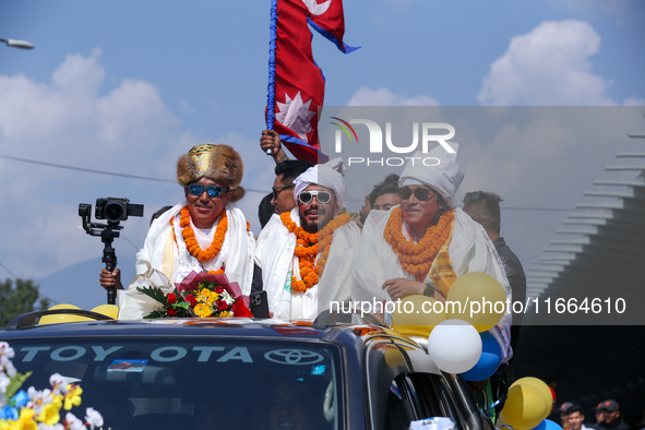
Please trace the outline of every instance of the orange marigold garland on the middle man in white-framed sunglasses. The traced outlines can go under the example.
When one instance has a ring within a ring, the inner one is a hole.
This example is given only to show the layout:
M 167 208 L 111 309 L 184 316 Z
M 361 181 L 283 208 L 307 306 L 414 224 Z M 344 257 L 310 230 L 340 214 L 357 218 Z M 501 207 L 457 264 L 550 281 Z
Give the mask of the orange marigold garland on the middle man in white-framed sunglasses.
M 302 227 L 298 227 L 296 223 L 291 220 L 291 215 L 288 212 L 283 213 L 280 215 L 280 219 L 289 232 L 296 235 L 297 238 L 297 246 L 294 254 L 298 256 L 298 266 L 300 267 L 300 277 L 302 280 L 299 280 L 296 276 L 292 276 L 291 290 L 304 292 L 318 284 L 318 279 L 320 276 L 322 276 L 327 256 L 330 254 L 334 231 L 338 227 L 349 223 L 349 215 L 338 215 L 332 219 L 322 230 L 316 232 L 307 232 Z M 318 264 L 315 264 L 315 258 L 318 256 L 319 249 L 321 250 L 321 253 Z

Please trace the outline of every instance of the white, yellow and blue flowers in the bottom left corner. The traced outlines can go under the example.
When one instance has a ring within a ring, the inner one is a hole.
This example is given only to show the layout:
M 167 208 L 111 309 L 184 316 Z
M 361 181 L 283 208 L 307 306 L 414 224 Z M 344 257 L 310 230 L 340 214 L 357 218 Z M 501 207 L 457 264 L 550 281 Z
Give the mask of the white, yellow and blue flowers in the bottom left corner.
M 22 384 L 33 372 L 22 374 L 11 359 L 15 351 L 7 342 L 0 342 L 0 430 L 86 430 L 103 427 L 103 417 L 94 408 L 85 410 L 85 422 L 67 413 L 60 422 L 60 409 L 71 410 L 81 405 L 83 389 L 68 384 L 59 373 L 49 378 L 51 390 L 38 391 Z

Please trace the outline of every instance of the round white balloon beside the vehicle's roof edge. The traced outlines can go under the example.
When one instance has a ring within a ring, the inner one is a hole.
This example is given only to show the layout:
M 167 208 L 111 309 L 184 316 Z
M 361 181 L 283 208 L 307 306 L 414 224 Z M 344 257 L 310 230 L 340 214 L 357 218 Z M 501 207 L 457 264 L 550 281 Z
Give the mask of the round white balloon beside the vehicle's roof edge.
M 428 355 L 447 373 L 463 373 L 477 365 L 481 356 L 481 337 L 470 323 L 445 320 L 428 336 Z

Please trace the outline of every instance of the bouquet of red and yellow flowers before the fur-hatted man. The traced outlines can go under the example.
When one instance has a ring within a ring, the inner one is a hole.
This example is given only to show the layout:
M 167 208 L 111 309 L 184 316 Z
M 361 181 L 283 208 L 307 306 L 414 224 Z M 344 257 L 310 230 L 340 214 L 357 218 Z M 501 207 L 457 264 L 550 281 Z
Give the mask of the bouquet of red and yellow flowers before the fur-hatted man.
M 144 316 L 249 316 L 249 297 L 242 296 L 237 283 L 229 283 L 226 275 L 191 272 L 181 283 L 175 284 L 171 292 L 164 294 L 156 287 L 138 287 L 159 307 Z M 0 429 L 1 430 L 1 429 Z

